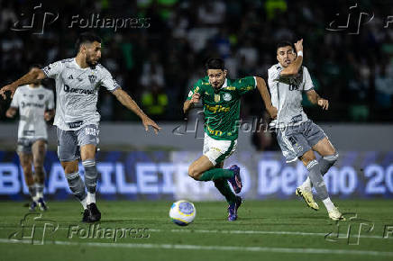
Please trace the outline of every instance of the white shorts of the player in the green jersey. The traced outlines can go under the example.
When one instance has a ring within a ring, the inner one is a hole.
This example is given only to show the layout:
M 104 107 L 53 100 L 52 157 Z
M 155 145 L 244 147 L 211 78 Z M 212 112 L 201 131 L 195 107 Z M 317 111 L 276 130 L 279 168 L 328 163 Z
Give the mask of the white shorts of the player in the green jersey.
M 237 147 L 236 140 L 213 139 L 205 133 L 204 155 L 209 158 L 213 165 L 220 164 L 224 159 L 230 157 Z

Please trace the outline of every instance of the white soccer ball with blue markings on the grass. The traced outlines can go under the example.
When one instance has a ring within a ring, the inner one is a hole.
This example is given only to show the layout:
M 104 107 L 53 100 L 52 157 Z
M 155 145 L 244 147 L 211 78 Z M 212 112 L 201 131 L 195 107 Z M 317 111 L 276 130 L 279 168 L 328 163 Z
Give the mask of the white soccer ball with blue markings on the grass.
M 187 226 L 197 214 L 197 210 L 192 202 L 178 201 L 170 207 L 169 217 L 179 226 Z

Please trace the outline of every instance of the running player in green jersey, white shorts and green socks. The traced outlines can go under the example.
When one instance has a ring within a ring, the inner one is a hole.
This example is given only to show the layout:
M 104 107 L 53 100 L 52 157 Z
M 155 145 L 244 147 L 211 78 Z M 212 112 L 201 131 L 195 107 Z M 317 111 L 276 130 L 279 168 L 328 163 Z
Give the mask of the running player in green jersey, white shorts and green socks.
M 224 169 L 224 159 L 230 157 L 237 145 L 240 123 L 240 98 L 258 88 L 266 109 L 275 119 L 277 109 L 272 106 L 265 81 L 258 76 L 229 79 L 224 68 L 224 60 L 210 58 L 206 62 L 207 76 L 194 85 L 183 105 L 187 113 L 195 103 L 202 99 L 205 113 L 205 139 L 203 155 L 188 167 L 188 175 L 198 181 L 210 181 L 229 203 L 228 220 L 237 220 L 237 210 L 242 198 L 235 193 L 242 190 L 240 167 L 233 165 Z

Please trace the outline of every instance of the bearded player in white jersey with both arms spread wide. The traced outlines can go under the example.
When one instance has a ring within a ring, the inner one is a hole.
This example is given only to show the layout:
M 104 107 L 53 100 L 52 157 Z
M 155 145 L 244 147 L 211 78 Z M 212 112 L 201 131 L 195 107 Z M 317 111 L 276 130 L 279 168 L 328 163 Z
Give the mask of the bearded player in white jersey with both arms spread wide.
M 92 33 L 82 33 L 77 40 L 78 54 L 32 70 L 11 85 L 0 90 L 13 96 L 19 85 L 50 77 L 56 81 L 56 116 L 54 125 L 58 131 L 58 156 L 64 168 L 69 189 L 84 208 L 82 221 L 94 222 L 101 219 L 96 206 L 96 146 L 100 115 L 96 111 L 98 90 L 101 86 L 110 91 L 127 109 L 137 114 L 145 130 L 149 126 L 158 133 L 159 125 L 152 121 L 123 89 L 116 83 L 108 70 L 98 63 L 101 58 L 101 39 Z M 85 168 L 85 181 L 79 175 L 78 162 Z M 86 193 L 87 190 L 87 193 Z

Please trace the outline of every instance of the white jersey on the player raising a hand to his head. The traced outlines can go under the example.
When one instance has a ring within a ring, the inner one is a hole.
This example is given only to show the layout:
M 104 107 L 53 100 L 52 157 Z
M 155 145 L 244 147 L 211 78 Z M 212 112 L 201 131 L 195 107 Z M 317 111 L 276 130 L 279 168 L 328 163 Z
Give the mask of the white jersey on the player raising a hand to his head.
M 271 103 L 278 109 L 276 126 L 297 125 L 307 121 L 303 111 L 302 93 L 314 88 L 311 76 L 302 66 L 297 76 L 280 76 L 283 67 L 278 63 L 268 70 Z

